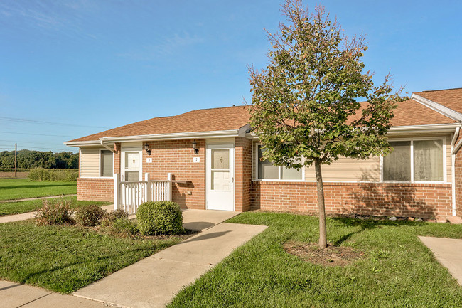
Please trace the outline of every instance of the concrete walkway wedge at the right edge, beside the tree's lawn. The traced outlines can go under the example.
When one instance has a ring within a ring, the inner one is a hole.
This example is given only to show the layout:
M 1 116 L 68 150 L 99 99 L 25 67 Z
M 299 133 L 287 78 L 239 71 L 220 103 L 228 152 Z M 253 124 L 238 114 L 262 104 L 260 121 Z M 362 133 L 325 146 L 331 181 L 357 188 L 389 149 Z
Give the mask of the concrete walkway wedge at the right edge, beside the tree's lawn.
M 462 285 L 462 240 L 426 236 L 419 236 L 419 239 L 431 249 L 436 260 L 449 270 L 458 284 Z

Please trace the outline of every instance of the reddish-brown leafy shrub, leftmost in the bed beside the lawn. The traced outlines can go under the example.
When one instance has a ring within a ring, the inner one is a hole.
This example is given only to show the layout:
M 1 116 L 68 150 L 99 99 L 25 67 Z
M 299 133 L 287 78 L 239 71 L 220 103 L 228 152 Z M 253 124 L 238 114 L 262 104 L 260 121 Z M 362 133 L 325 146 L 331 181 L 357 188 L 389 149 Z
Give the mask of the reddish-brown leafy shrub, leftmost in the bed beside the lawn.
M 42 207 L 37 209 L 38 225 L 72 225 L 71 202 L 64 199 L 43 199 Z

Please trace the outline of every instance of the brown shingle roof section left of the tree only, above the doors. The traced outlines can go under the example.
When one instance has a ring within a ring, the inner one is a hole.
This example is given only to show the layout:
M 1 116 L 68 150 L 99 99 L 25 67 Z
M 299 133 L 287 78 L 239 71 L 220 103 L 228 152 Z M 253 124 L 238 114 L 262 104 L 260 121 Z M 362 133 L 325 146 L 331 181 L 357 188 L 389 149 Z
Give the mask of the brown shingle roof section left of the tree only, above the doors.
M 249 122 L 247 106 L 193 110 L 172 117 L 154 117 L 71 142 L 98 140 L 102 137 L 125 137 L 143 134 L 174 134 L 181 132 L 214 132 L 240 129 Z

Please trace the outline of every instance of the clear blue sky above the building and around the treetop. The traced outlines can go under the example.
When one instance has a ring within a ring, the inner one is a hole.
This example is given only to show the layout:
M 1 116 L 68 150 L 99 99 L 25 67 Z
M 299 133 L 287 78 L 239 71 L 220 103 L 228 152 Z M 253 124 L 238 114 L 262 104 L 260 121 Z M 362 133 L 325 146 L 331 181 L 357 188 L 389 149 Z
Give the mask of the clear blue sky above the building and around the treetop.
M 0 1 L 0 151 L 75 150 L 63 142 L 250 101 L 247 65 L 267 63 L 281 3 Z M 462 86 L 462 1 L 304 4 L 367 35 L 375 81 L 391 70 L 409 93 Z

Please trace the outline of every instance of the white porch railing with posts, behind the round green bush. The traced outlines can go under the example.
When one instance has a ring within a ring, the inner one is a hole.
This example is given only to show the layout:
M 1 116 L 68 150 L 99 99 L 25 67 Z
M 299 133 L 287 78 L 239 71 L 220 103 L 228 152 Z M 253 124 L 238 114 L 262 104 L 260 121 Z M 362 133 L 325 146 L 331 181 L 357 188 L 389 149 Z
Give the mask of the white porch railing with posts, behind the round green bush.
M 120 181 L 120 174 L 114 174 L 114 210 L 122 208 L 129 214 L 136 213 L 141 203 L 149 201 L 171 201 L 171 174 L 167 180 Z

